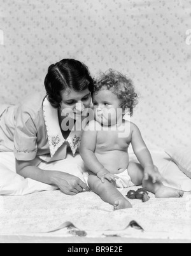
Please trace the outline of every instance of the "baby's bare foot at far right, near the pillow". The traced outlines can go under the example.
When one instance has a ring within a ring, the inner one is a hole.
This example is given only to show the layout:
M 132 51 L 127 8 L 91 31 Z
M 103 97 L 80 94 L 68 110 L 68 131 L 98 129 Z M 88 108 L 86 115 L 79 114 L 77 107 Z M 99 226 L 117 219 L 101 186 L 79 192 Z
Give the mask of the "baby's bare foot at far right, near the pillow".
M 184 192 L 178 189 L 162 186 L 160 187 L 155 197 L 157 198 L 170 198 L 170 197 L 183 197 Z

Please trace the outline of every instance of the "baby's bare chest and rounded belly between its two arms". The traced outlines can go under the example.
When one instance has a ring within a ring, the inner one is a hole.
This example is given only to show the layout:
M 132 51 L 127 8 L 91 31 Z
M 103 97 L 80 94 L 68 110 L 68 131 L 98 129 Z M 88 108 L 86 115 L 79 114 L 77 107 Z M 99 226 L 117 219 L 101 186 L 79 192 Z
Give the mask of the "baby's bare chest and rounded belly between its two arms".
M 129 141 L 118 138 L 117 131 L 97 132 L 95 156 L 110 173 L 122 173 L 129 165 Z

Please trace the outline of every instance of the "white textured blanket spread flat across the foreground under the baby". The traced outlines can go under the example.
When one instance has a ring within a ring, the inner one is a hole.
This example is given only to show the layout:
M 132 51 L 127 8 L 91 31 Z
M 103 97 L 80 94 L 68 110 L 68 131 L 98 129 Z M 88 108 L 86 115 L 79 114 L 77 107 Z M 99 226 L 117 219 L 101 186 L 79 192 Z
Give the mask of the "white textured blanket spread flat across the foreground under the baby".
M 135 190 L 137 187 L 133 187 Z M 129 189 L 122 190 L 124 196 Z M 66 196 L 59 190 L 39 192 L 22 197 L 0 197 L 0 238 L 6 236 L 69 237 L 74 229 L 57 229 L 72 222 L 85 231 L 86 238 L 120 236 L 122 238 L 190 239 L 191 195 L 181 199 L 155 199 L 142 203 L 131 200 L 132 209 L 113 211 L 93 192 Z M 144 231 L 133 229 L 136 221 Z M 129 226 L 129 227 L 128 227 Z

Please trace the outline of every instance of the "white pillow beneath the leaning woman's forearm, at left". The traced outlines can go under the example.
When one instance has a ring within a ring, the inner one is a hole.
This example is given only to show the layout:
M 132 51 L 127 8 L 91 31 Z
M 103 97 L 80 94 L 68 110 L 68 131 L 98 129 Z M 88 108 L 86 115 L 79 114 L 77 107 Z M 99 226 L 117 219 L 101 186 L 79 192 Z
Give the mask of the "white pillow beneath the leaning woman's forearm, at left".
M 73 157 L 68 154 L 64 160 L 51 163 L 42 162 L 38 167 L 47 171 L 57 170 L 70 173 L 83 180 L 82 163 L 80 155 Z M 25 179 L 18 175 L 15 172 L 14 154 L 12 152 L 0 153 L 0 196 L 24 196 L 34 192 L 57 189 L 54 185 L 41 183 L 30 178 Z

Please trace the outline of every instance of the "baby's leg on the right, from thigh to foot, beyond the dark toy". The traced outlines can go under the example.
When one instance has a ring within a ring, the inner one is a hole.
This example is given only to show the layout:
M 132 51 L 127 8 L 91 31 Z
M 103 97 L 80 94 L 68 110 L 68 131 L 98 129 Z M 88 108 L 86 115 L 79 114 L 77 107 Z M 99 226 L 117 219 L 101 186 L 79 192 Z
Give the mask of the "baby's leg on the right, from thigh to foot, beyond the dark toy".
M 155 197 L 182 197 L 184 194 L 181 190 L 164 186 L 162 182 L 153 183 L 151 178 L 149 178 L 148 180 L 144 180 L 144 170 L 141 164 L 130 162 L 128 166 L 128 173 L 134 185 L 138 186 L 142 183 L 143 187 L 146 188 L 146 190 L 155 194 Z

